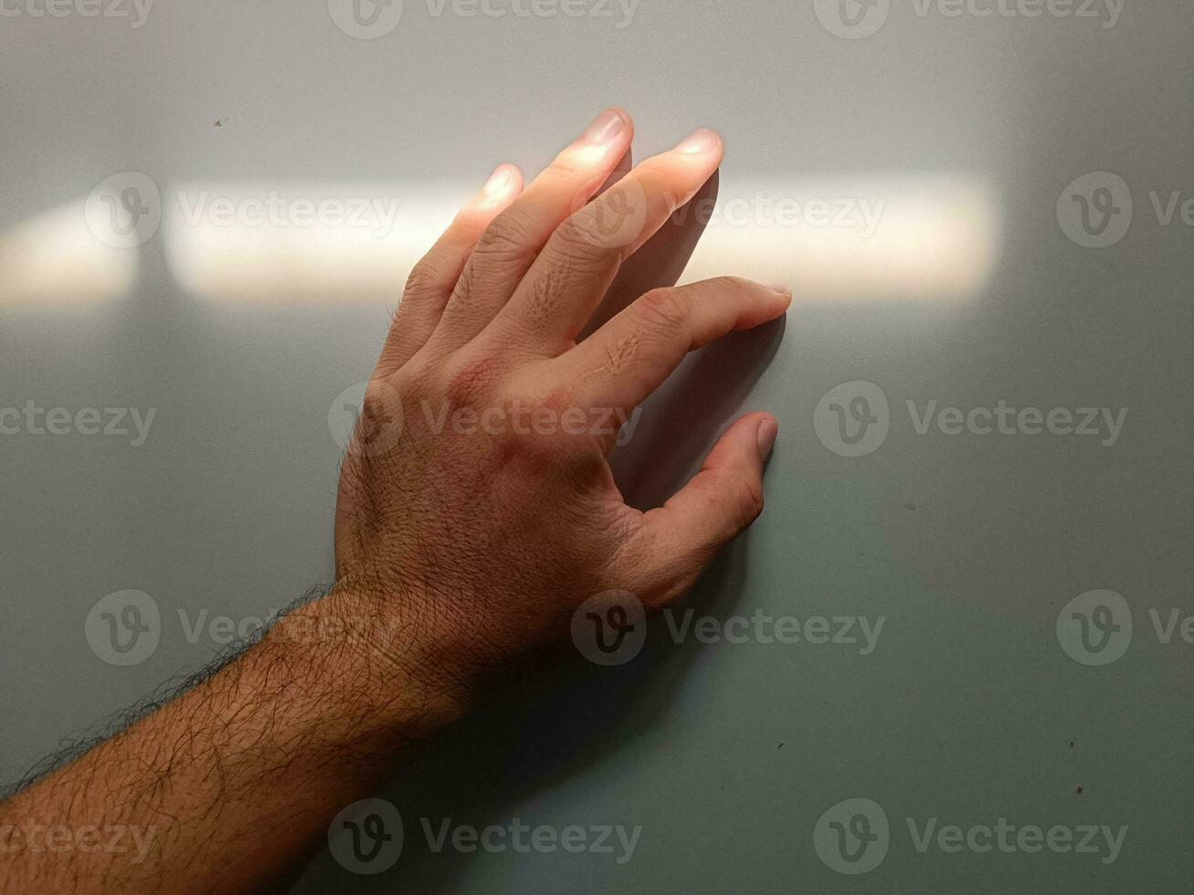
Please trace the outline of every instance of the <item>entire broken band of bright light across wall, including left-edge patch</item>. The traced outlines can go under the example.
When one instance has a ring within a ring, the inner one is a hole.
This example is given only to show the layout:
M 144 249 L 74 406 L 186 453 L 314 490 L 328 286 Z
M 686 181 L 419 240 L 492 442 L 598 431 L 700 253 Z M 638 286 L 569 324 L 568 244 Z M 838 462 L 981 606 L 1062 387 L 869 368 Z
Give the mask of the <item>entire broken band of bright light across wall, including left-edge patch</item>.
M 181 183 L 161 191 L 155 239 L 186 291 L 217 302 L 399 298 L 476 184 Z M 1002 243 L 995 191 L 967 175 L 724 178 L 683 282 L 738 274 L 792 285 L 801 303 L 962 302 Z M 96 239 L 72 203 L 0 234 L 0 304 L 113 298 L 135 248 Z

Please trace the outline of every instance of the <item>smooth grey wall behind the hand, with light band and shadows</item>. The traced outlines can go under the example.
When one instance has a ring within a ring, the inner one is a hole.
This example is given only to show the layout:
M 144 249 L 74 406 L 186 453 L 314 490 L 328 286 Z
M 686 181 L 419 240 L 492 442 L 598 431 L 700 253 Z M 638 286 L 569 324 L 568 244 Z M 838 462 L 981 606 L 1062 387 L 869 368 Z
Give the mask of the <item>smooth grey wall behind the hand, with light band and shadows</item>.
M 295 890 L 1188 888 L 1188 4 L 99 8 L 0 6 L 0 783 L 330 581 L 406 270 L 617 103 L 636 158 L 726 138 L 684 279 L 796 296 L 620 480 L 659 500 L 763 408 L 767 512 L 632 661 L 377 794 L 390 869 Z

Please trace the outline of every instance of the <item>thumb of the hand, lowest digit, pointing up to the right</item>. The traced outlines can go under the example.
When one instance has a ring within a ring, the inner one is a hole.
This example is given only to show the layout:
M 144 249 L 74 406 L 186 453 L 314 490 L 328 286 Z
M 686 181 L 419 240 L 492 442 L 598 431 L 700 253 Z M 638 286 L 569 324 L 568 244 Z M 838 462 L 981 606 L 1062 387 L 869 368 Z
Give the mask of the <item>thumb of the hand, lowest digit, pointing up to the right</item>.
M 664 506 L 644 517 L 633 548 L 645 547 L 635 582 L 652 604 L 688 591 L 718 551 L 763 511 L 763 462 L 780 424 L 765 413 L 734 422 L 713 446 L 701 471 Z

